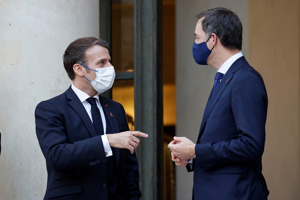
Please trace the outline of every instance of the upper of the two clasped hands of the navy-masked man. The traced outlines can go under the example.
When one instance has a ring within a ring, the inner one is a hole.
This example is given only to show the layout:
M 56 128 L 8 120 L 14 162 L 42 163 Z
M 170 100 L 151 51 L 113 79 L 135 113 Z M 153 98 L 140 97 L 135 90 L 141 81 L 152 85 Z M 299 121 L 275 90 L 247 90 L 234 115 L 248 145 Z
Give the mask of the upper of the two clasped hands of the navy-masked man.
M 185 161 L 190 160 L 191 158 L 195 158 L 195 146 L 196 144 L 194 144 L 186 137 L 176 136 L 174 137 L 174 140 L 168 145 L 175 157 Z

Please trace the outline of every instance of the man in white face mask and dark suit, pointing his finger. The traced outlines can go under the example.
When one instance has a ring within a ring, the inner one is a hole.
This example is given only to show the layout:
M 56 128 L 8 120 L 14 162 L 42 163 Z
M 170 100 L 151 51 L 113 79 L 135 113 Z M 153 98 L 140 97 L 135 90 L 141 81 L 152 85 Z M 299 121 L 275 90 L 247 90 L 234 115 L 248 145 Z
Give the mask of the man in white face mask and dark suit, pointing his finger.
M 44 199 L 141 197 L 135 136 L 148 135 L 129 131 L 123 106 L 98 94 L 110 89 L 115 77 L 107 46 L 95 37 L 70 43 L 63 60 L 73 84 L 36 107 L 48 173 Z

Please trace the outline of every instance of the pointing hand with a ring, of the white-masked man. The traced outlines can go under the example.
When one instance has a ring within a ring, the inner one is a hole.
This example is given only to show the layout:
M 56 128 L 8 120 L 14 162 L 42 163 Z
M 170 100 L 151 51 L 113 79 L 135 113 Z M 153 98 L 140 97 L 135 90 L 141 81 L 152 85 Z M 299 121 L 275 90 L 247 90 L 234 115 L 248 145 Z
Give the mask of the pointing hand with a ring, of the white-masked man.
M 125 131 L 122 133 L 107 134 L 107 139 L 111 147 L 129 149 L 131 154 L 133 154 L 134 149 L 140 144 L 140 139 L 134 136 L 148 137 L 146 133 L 140 131 Z

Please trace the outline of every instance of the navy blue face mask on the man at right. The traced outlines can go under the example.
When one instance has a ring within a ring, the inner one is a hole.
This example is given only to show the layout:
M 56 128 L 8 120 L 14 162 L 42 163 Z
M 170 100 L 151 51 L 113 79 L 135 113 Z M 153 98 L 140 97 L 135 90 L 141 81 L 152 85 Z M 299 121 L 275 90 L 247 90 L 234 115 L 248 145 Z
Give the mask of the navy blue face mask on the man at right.
M 212 49 L 214 49 L 214 47 L 212 47 L 211 50 L 208 49 L 206 45 L 208 40 L 199 44 L 196 44 L 195 42 L 193 43 L 193 57 L 197 64 L 207 65 L 207 58 L 210 55 Z

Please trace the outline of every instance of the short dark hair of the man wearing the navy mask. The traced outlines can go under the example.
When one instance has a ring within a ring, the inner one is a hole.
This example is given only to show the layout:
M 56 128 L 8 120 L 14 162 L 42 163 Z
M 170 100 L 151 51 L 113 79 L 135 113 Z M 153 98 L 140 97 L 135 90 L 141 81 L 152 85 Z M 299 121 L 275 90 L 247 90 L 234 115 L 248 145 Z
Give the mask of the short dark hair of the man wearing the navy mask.
M 212 33 L 220 38 L 221 44 L 230 50 L 242 49 L 243 26 L 238 16 L 231 10 L 223 7 L 216 7 L 202 11 L 197 14 L 202 20 L 202 29 L 205 32 L 205 40 Z

